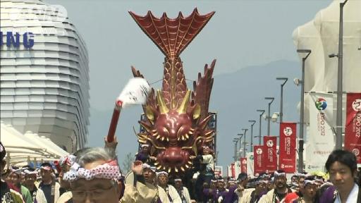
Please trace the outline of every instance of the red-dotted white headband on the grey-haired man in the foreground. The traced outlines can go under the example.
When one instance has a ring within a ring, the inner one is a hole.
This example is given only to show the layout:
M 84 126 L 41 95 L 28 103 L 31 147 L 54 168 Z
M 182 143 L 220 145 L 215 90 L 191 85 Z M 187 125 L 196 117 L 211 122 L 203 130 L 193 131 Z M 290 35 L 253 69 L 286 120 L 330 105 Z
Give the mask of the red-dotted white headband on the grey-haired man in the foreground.
M 118 162 L 111 160 L 92 169 L 85 169 L 80 167 L 78 163 L 74 163 L 73 166 L 71 166 L 71 170 L 64 174 L 63 180 L 69 182 L 73 182 L 79 178 L 84 178 L 85 180 L 92 180 L 94 178 L 118 180 L 121 177 Z

